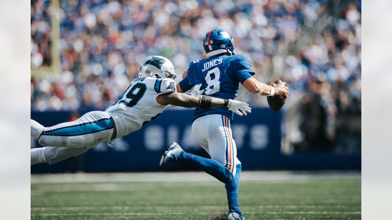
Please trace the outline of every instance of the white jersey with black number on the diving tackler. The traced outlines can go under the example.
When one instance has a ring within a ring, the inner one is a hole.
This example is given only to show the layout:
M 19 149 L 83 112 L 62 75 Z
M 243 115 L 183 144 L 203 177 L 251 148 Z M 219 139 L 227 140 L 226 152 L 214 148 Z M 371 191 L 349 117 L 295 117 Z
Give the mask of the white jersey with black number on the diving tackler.
M 156 119 L 167 106 L 157 103 L 156 97 L 167 92 L 176 92 L 173 79 L 134 79 L 121 99 L 105 110 L 112 113 L 116 123 L 116 138 L 137 131 L 143 124 Z

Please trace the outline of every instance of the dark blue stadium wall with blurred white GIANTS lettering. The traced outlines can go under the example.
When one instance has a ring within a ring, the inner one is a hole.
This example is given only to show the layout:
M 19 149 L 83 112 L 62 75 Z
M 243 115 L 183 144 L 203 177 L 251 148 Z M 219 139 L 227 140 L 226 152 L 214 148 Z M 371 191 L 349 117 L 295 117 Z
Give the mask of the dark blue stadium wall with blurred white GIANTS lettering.
M 209 157 L 193 138 L 193 111 L 165 110 L 137 132 L 116 139 L 114 148 L 104 142 L 82 155 L 56 164 L 33 165 L 31 173 L 194 170 L 187 164 L 171 163 L 163 167 L 158 164 L 162 153 L 173 141 L 190 153 Z M 44 126 L 53 126 L 69 121 L 71 114 L 73 112 L 31 112 L 31 118 Z M 332 152 L 282 154 L 281 121 L 282 112 L 273 112 L 269 108 L 253 108 L 248 116 L 234 115 L 232 133 L 244 170 L 361 169 L 361 155 Z M 31 139 L 31 148 L 35 147 L 41 146 Z

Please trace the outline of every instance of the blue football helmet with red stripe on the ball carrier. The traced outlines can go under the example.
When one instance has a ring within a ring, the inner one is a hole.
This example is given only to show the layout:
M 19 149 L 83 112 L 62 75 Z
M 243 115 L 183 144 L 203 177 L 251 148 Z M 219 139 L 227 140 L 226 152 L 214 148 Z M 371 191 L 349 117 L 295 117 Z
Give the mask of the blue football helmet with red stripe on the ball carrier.
M 208 57 L 215 56 L 224 52 L 230 55 L 236 54 L 234 39 L 229 33 L 222 29 L 212 29 L 204 36 L 203 47 Z

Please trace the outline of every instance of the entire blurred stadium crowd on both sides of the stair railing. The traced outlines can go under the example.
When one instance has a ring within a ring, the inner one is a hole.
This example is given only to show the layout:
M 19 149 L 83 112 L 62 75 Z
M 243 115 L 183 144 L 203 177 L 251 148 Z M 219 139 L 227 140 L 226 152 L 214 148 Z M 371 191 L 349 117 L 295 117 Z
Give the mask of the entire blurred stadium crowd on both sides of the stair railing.
M 206 58 L 202 39 L 216 27 L 231 34 L 256 77 L 270 75 L 278 47 L 292 42 L 326 5 L 327 0 L 60 0 L 62 73 L 31 79 L 31 109 L 104 109 L 152 54 L 169 58 L 179 81 L 192 60 Z M 50 33 L 50 1 L 32 0 L 32 69 L 51 65 Z M 306 114 L 325 117 L 329 137 L 337 114 L 360 114 L 360 1 L 341 11 L 300 54 L 286 56 L 280 77 L 290 93 L 306 94 Z M 244 101 L 265 105 L 257 99 Z

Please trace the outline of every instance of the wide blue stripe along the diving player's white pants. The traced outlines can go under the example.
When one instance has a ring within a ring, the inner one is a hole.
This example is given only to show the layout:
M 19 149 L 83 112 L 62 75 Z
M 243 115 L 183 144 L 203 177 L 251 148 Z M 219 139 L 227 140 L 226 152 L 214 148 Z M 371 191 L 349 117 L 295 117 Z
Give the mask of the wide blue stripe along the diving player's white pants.
M 100 119 L 89 123 L 76 124 L 64 128 L 57 128 L 54 130 L 46 131 L 43 135 L 51 136 L 75 136 L 84 135 L 88 133 L 100 132 L 114 128 L 113 118 Z

